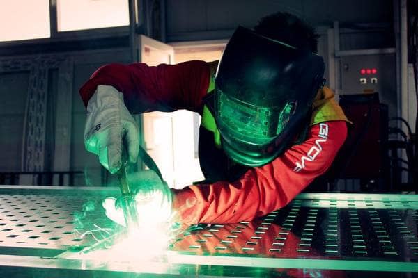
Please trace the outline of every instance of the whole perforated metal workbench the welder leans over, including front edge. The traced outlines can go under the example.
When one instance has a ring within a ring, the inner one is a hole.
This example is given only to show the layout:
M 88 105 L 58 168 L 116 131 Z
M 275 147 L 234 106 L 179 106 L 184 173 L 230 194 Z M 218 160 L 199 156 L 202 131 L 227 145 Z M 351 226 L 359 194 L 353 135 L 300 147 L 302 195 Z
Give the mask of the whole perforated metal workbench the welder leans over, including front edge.
M 109 195 L 118 188 L 0 186 L 0 277 L 418 276 L 416 195 L 301 194 L 252 222 L 196 227 L 147 262 L 79 254 L 94 239 L 74 216 L 114 229 L 99 205 Z

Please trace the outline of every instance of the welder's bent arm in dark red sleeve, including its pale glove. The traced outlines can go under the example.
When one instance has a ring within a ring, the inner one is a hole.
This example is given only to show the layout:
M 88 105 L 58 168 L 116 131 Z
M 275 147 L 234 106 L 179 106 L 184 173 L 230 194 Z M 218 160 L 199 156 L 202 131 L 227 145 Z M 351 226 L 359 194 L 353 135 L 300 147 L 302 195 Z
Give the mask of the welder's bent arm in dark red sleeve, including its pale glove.
M 100 67 L 79 90 L 87 107 L 84 143 L 111 173 L 121 165 L 122 142 L 137 160 L 139 131 L 130 113 L 201 111 L 210 79 L 203 61 L 150 67 L 144 63 Z

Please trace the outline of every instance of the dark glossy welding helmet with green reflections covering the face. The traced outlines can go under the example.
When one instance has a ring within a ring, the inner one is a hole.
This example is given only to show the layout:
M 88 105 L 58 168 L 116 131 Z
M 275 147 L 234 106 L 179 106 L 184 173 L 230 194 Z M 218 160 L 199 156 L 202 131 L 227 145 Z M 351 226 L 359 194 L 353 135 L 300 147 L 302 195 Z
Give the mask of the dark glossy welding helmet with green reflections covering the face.
M 215 76 L 215 121 L 222 148 L 250 167 L 294 142 L 325 80 L 323 58 L 238 27 Z

